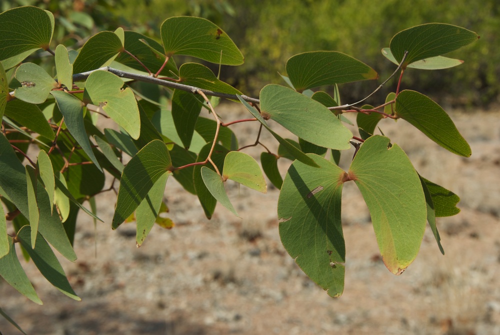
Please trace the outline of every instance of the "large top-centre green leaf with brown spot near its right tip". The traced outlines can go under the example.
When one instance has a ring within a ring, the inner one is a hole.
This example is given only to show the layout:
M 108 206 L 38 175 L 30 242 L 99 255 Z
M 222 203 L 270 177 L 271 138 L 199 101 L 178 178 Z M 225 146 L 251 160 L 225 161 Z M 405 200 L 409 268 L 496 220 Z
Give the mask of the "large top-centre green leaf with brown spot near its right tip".
M 193 56 L 222 65 L 243 64 L 234 42 L 208 20 L 193 17 L 166 19 L 160 28 L 165 54 Z

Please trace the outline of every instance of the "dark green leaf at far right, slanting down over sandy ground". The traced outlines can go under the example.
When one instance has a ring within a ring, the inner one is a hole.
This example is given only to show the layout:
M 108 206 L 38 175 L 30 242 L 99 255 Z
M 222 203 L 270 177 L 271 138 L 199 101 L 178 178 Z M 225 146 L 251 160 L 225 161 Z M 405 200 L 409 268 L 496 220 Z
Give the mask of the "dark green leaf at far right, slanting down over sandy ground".
M 404 90 L 397 95 L 396 116 L 408 121 L 435 143 L 454 154 L 469 157 L 472 153 L 444 110 L 421 93 Z

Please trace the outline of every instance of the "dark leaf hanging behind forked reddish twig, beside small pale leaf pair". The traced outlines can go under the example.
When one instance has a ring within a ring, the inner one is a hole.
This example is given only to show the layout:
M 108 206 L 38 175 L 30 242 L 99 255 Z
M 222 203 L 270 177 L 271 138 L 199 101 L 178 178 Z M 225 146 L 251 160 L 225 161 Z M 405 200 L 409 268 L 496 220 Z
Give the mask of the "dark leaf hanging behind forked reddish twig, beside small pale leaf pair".
M 210 152 L 211 146 L 212 146 L 211 143 L 207 143 L 203 148 L 201 148 L 198 154 L 198 158 L 196 159 L 196 162 L 205 161 L 206 157 L 208 156 L 208 153 Z M 219 171 L 223 170 L 225 155 L 227 155 L 228 152 L 229 152 L 228 149 L 224 148 L 219 144 L 215 144 L 213 148 L 213 153 L 211 158 Z M 206 166 L 207 168 L 215 171 L 215 169 L 210 163 L 206 163 L 203 166 Z M 208 219 L 210 219 L 213 214 L 213 211 L 215 210 L 215 205 L 217 204 L 217 200 L 212 196 L 210 191 L 205 186 L 205 183 L 201 177 L 200 165 L 194 166 L 193 181 L 194 181 L 195 193 L 198 196 L 199 203 L 201 204 L 201 207 L 205 212 L 205 216 Z

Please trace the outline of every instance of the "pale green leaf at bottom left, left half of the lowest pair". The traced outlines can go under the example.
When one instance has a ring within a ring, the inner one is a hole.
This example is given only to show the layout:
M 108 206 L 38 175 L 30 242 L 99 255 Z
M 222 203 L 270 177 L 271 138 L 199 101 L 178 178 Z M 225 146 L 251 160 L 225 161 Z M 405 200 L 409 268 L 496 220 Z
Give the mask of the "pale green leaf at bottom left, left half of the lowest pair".
M 19 293 L 41 305 L 40 298 L 19 263 L 12 238 L 8 239 L 8 250 L 8 254 L 0 258 L 0 275 Z

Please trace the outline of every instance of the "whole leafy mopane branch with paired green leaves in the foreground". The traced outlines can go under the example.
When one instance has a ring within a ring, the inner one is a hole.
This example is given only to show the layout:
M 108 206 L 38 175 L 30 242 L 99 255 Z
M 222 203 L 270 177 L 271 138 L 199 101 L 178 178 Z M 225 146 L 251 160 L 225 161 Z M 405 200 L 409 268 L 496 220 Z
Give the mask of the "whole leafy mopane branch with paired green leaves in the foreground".
M 57 289 L 79 300 L 52 251 L 76 259 L 77 213 L 99 220 L 94 196 L 114 191 L 116 208 L 107 224 L 116 229 L 135 221 L 140 246 L 155 223 L 173 226 L 159 216 L 167 210 L 168 177 L 196 195 L 210 218 L 217 203 L 237 215 L 226 180 L 265 193 L 265 174 L 280 189 L 284 248 L 330 296 L 341 295 L 344 287 L 345 182 L 359 188 L 390 272 L 402 273 L 415 259 L 426 222 L 443 252 L 436 217 L 458 213 L 459 198 L 419 175 L 404 151 L 377 131 L 377 123 L 404 119 L 451 153 L 470 156 L 446 112 L 417 91 L 400 90 L 400 83 L 408 71 L 460 65 L 442 55 L 474 42 L 475 33 L 435 23 L 394 35 L 382 49 L 394 63 L 393 93 L 368 106 L 361 105 L 364 99 L 341 104 L 337 84 L 376 80 L 377 73 L 336 51 L 291 57 L 285 85 L 263 87 L 258 99 L 220 81 L 204 65 L 176 63 L 178 55 L 218 65 L 243 63 L 227 33 L 200 18 L 165 20 L 158 41 L 118 28 L 90 36 L 79 49 L 55 45 L 53 31 L 53 15 L 36 7 L 0 14 L 0 275 L 32 301 L 41 304 L 16 248 Z M 327 86 L 333 96 L 318 90 Z M 248 117 L 224 123 L 216 113 L 220 98 L 242 104 Z M 200 116 L 202 109 L 209 118 Z M 357 114 L 358 133 L 344 126 L 350 123 L 344 113 Z M 102 116 L 119 131 L 99 129 Z M 289 138 L 276 134 L 268 120 L 286 128 Z M 231 131 L 237 122 L 259 123 L 260 165 L 238 146 Z M 279 143 L 277 152 L 260 142 L 265 131 Z M 352 146 L 355 155 L 344 171 L 338 160 Z M 291 161 L 284 178 L 279 159 Z M 104 184 L 104 173 L 114 177 L 111 185 Z

